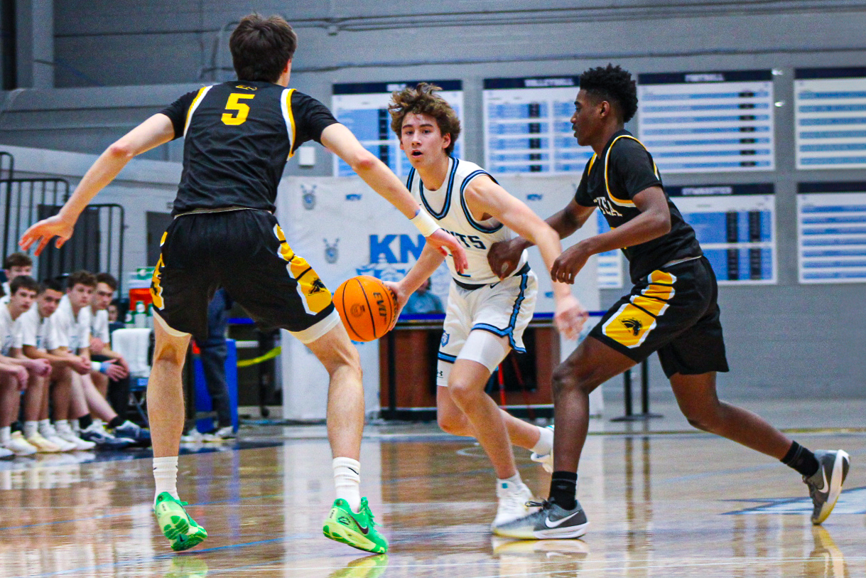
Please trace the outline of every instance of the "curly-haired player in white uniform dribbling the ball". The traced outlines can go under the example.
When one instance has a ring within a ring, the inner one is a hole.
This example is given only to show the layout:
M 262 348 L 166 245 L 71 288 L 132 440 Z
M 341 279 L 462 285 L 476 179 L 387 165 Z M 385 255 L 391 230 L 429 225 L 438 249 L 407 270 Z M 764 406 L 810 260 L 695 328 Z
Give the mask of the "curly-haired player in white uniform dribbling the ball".
M 538 282 L 526 253 L 518 256 L 514 275 L 500 278 L 490 269 L 491 244 L 514 237 L 532 239 L 547 267 L 562 251 L 559 236 L 527 205 L 509 195 L 480 166 L 451 156 L 460 136 L 460 120 L 438 87 L 421 83 L 395 93 L 391 128 L 400 138 L 412 169 L 406 186 L 420 198 L 423 211 L 459 238 L 469 268 L 452 280 L 436 372 L 436 414 L 444 431 L 478 439 L 496 472 L 499 500 L 493 531 L 525 516 L 532 492 L 514 466 L 512 443 L 549 456 L 553 432 L 516 419 L 499 409 L 484 386 L 512 349 L 523 352 L 523 331 L 533 317 Z M 442 264 L 436 250 L 424 248 L 399 283 L 389 283 L 401 308 L 409 296 Z M 565 283 L 553 283 L 554 321 L 576 339 L 586 320 L 585 308 Z M 540 461 L 540 460 L 538 460 Z

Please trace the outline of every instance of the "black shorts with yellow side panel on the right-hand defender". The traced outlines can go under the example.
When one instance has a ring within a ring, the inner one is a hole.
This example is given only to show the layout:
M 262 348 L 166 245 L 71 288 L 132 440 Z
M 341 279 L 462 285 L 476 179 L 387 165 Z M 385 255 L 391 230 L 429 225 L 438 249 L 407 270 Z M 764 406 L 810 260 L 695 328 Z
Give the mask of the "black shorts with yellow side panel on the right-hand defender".
M 726 372 L 718 295 L 706 257 L 662 267 L 617 301 L 590 335 L 638 363 L 657 351 L 668 377 Z

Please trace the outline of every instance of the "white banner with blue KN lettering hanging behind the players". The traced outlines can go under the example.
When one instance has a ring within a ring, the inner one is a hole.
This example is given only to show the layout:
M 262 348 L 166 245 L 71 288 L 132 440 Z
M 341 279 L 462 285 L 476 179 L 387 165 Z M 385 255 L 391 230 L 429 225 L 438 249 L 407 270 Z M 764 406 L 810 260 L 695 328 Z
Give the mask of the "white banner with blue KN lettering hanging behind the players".
M 568 204 L 579 176 L 497 179 L 541 218 L 547 218 Z M 358 275 L 398 281 L 423 250 L 423 236 L 409 220 L 357 177 L 283 179 L 276 216 L 292 250 L 307 259 L 332 291 Z M 589 219 L 584 229 L 563 241 L 563 247 L 595 234 L 595 227 L 596 220 Z M 554 303 L 550 276 L 537 249 L 529 250 L 529 262 L 539 277 L 536 315 L 551 314 Z M 443 304 L 448 300 L 449 283 L 449 271 L 443 264 L 431 278 L 431 290 Z M 574 291 L 587 309 L 598 309 L 595 257 L 578 275 Z M 325 369 L 307 347 L 289 334 L 283 334 L 282 343 L 283 417 L 324 419 L 328 381 Z M 357 346 L 364 369 L 366 412 L 378 412 L 378 341 Z

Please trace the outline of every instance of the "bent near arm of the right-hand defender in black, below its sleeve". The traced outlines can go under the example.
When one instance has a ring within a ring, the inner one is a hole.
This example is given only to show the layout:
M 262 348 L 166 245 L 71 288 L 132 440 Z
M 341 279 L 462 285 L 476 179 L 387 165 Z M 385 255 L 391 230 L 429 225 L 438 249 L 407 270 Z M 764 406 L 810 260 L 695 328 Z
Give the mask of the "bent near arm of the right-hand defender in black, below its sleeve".
M 640 215 L 616 229 L 584 239 L 564 250 L 553 263 L 551 276 L 563 283 L 574 283 L 574 276 L 592 255 L 646 243 L 670 231 L 668 198 L 662 187 L 650 186 L 638 192 L 633 200 L 637 210 L 641 211 Z

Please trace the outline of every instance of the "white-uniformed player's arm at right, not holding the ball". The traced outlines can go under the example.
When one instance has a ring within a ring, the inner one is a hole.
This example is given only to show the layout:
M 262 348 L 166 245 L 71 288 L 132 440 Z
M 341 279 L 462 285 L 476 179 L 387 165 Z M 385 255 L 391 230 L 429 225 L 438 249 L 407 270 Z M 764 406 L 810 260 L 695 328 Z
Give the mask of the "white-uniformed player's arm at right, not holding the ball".
M 538 245 L 547 269 L 553 267 L 553 262 L 562 252 L 559 234 L 527 205 L 509 195 L 487 176 L 475 178 L 467 187 L 465 198 L 469 211 L 476 218 L 482 218 L 485 214 L 496 218 L 520 237 Z M 589 314 L 565 283 L 553 280 L 553 297 L 556 300 L 553 319 L 557 328 L 568 339 L 577 339 Z

